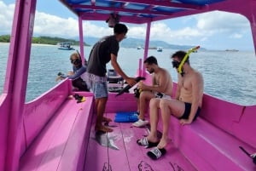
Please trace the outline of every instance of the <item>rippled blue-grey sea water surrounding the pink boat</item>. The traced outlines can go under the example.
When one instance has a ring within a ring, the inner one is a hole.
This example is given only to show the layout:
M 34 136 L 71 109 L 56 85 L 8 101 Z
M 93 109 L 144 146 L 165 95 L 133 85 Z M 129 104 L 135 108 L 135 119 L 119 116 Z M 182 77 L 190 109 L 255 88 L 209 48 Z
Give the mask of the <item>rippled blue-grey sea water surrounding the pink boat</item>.
M 74 47 L 79 49 L 79 47 Z M 85 58 L 91 47 L 85 47 Z M 177 82 L 177 71 L 172 68 L 170 56 L 178 49 L 155 49 L 149 55 L 157 57 L 159 66 L 170 71 L 173 81 Z M 3 92 L 9 43 L 0 43 L 0 93 Z M 56 84 L 59 71 L 72 71 L 69 56 L 74 51 L 59 50 L 56 46 L 32 45 L 30 70 L 26 89 L 26 101 L 33 100 Z M 119 65 L 125 73 L 135 76 L 138 60 L 143 59 L 143 49 L 120 48 Z M 205 82 L 205 93 L 221 100 L 239 105 L 256 104 L 256 57 L 254 52 L 226 52 L 199 49 L 190 54 L 190 65 L 201 71 Z M 108 64 L 108 69 L 112 68 Z

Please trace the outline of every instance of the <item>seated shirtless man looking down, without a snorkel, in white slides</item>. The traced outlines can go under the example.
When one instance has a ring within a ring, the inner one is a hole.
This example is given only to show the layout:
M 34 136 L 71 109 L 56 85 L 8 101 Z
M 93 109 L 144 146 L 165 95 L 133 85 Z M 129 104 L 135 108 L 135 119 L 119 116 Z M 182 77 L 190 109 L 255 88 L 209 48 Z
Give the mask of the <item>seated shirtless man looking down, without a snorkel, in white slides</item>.
M 138 99 L 138 121 L 132 123 L 135 127 L 143 127 L 149 122 L 145 120 L 147 102 L 154 97 L 171 99 L 172 97 L 172 77 L 168 71 L 160 68 L 154 56 L 149 56 L 144 61 L 145 67 L 150 74 L 153 74 L 152 85 L 146 85 L 143 82 L 138 84 L 138 88 L 142 91 Z M 160 93 L 160 94 L 159 94 Z

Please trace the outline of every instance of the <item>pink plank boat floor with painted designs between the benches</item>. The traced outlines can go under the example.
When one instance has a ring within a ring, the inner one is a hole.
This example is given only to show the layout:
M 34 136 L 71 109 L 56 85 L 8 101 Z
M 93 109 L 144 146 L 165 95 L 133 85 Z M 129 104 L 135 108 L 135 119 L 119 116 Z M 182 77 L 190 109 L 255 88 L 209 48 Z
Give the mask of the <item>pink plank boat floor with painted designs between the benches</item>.
M 114 120 L 115 113 L 105 117 Z M 148 128 L 132 127 L 131 123 L 110 122 L 112 133 L 96 134 L 95 123 L 90 130 L 84 170 L 94 171 L 166 171 L 196 170 L 172 142 L 166 146 L 166 155 L 154 161 L 147 156 L 151 149 L 137 145 L 137 140 L 148 134 Z M 100 144 L 101 142 L 101 144 Z

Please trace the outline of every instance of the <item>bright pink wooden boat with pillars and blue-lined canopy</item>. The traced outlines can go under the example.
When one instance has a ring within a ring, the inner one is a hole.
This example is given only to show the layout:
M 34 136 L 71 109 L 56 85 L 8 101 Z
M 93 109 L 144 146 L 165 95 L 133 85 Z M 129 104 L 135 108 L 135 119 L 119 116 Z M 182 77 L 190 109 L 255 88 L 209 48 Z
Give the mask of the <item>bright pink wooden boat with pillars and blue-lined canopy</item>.
M 201 116 L 195 123 L 182 127 L 172 117 L 172 143 L 166 147 L 164 157 L 153 161 L 146 154 L 148 149 L 136 143 L 148 134 L 148 127 L 132 128 L 131 123 L 111 122 L 113 133 L 96 134 L 93 94 L 74 92 L 68 79 L 26 103 L 36 3 L 36 0 L 15 3 L 8 66 L 0 96 L 0 170 L 256 170 L 252 155 L 256 152 L 256 105 L 236 105 L 204 94 Z M 214 10 L 244 15 L 251 24 L 256 50 L 255 0 L 61 0 L 60 3 L 78 15 L 83 58 L 83 20 L 105 22 L 109 16 L 118 15 L 120 22 L 147 24 L 145 59 L 152 21 Z M 142 61 L 137 64 L 137 75 L 148 78 Z M 69 99 L 73 94 L 84 96 L 85 101 L 77 103 Z M 114 118 L 119 111 L 137 110 L 132 93 L 115 95 L 109 95 L 107 117 Z

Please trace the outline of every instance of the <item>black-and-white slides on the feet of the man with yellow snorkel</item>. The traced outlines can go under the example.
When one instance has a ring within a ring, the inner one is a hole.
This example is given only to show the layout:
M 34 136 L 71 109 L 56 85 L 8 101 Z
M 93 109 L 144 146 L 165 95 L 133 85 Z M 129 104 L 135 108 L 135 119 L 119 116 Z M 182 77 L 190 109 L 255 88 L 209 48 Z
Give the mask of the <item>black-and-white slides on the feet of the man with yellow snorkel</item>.
M 147 152 L 148 157 L 150 157 L 153 160 L 157 160 L 166 154 L 165 148 L 160 149 L 156 147 L 159 144 L 159 142 L 151 142 L 146 137 L 142 138 L 141 140 L 137 140 L 137 144 L 143 145 L 145 146 L 145 148 L 154 147 L 154 149 Z

